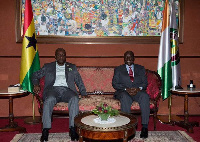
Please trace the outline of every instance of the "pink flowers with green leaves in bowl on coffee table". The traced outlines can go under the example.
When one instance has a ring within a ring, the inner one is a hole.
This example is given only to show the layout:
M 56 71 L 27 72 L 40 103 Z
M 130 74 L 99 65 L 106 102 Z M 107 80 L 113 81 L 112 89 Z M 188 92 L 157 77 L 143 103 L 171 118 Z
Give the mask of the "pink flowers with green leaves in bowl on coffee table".
M 96 106 L 95 109 L 92 110 L 94 114 L 97 114 L 101 120 L 108 120 L 109 117 L 115 116 L 119 114 L 119 111 L 113 109 L 111 106 L 108 106 L 106 103 L 101 103 L 99 106 Z

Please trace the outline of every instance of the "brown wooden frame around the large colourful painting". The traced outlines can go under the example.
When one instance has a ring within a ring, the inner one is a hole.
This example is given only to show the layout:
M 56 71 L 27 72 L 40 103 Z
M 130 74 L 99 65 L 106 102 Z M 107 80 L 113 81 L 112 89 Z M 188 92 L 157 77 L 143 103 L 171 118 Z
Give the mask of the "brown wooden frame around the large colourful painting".
M 22 42 L 22 0 L 16 0 L 15 35 L 16 42 Z M 183 43 L 185 0 L 179 0 L 179 43 Z M 37 42 L 42 44 L 159 44 L 160 36 L 59 36 L 39 35 Z

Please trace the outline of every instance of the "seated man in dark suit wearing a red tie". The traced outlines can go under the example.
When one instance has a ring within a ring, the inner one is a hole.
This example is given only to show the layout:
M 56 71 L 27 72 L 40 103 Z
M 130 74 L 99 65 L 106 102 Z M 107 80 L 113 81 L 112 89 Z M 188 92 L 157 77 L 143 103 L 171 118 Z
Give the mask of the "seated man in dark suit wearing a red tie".
M 130 113 L 133 101 L 137 101 L 142 113 L 142 130 L 140 137 L 148 137 L 148 122 L 150 115 L 149 95 L 146 93 L 148 85 L 145 68 L 134 64 L 134 53 L 124 53 L 124 63 L 115 68 L 112 80 L 113 88 L 116 90 L 114 97 L 121 103 L 121 111 Z

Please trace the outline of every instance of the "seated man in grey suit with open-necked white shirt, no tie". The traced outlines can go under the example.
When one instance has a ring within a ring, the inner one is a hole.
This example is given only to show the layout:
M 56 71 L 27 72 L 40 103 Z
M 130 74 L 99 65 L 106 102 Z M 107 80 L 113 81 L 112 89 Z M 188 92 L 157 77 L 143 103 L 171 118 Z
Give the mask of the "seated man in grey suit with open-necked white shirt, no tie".
M 58 48 L 55 51 L 55 59 L 55 62 L 45 64 L 32 76 L 34 93 L 39 93 L 39 80 L 45 77 L 42 115 L 43 130 L 40 140 L 48 141 L 53 107 L 58 102 L 68 103 L 71 140 L 78 140 L 78 134 L 74 128 L 74 117 L 79 113 L 79 96 L 75 84 L 83 97 L 86 97 L 86 89 L 76 66 L 66 62 L 66 52 L 63 48 Z

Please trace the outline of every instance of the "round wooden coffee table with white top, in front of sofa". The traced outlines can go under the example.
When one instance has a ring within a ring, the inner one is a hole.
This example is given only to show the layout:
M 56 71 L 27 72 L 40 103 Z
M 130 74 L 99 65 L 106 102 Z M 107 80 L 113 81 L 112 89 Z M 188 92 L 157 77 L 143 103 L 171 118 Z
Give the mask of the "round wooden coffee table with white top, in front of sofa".
M 127 142 L 128 137 L 135 135 L 137 119 L 126 113 L 120 113 L 114 116 L 115 122 L 101 124 L 94 120 L 98 118 L 92 112 L 79 113 L 74 119 L 79 134 L 79 142 L 83 142 L 83 138 L 92 140 L 116 140 L 123 139 Z

